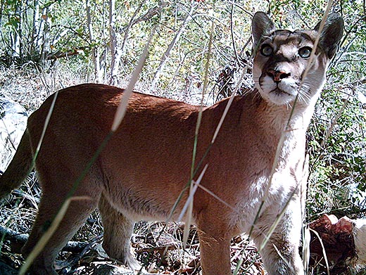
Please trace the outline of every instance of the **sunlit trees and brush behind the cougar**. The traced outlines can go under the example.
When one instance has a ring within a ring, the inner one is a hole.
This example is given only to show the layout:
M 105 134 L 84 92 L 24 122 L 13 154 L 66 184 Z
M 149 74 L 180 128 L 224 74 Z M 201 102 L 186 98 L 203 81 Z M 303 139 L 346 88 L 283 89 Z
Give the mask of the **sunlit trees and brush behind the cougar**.
M 327 4 L 1 0 L 0 96 L 30 114 L 54 91 L 72 84 L 126 87 L 156 27 L 136 89 L 194 104 L 204 92 L 209 105 L 230 96 L 243 72 L 242 87 L 253 87 L 250 27 L 255 11 L 270 13 L 279 28 L 311 29 Z M 334 1 L 331 12 L 343 16 L 345 35 L 308 131 L 308 222 L 322 213 L 357 218 L 366 212 L 365 0 Z M 4 170 L 14 148 L 0 150 Z M 39 198 L 34 182 L 30 179 L 23 190 L 26 196 L 13 195 L 1 205 L 1 223 L 29 231 Z M 79 237 L 91 238 L 86 235 Z

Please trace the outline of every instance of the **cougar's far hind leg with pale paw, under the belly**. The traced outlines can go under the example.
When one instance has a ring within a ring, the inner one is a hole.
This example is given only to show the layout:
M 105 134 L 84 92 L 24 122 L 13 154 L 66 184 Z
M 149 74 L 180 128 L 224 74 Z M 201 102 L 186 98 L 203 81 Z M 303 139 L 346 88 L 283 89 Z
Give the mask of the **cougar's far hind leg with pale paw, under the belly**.
M 115 210 L 103 195 L 99 200 L 99 211 L 101 212 L 104 229 L 104 250 L 110 257 L 123 262 L 130 269 L 141 269 L 139 262 L 131 254 L 130 238 L 134 229 L 134 222 Z

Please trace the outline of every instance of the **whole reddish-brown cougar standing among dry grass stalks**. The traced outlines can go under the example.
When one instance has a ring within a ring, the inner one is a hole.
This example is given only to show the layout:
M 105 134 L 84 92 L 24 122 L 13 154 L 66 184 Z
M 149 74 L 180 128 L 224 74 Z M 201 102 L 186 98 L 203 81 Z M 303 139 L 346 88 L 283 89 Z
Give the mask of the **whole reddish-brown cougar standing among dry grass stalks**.
M 194 180 L 208 166 L 193 207 L 203 275 L 231 274 L 230 240 L 249 231 L 257 245 L 270 236 L 261 250 L 268 274 L 303 274 L 298 246 L 305 131 L 327 65 L 342 37 L 343 20 L 333 13 L 320 33 L 319 28 L 320 23 L 314 30 L 276 30 L 265 13 L 255 13 L 255 89 L 233 98 L 212 145 L 229 99 L 203 108 Z M 315 48 L 317 35 L 320 40 Z M 310 64 L 312 51 L 315 58 Z M 35 160 L 43 193 L 23 248 L 25 255 L 39 241 L 110 132 L 122 96 L 123 89 L 102 84 L 59 91 Z M 30 116 L 18 151 L 0 179 L 0 198 L 20 186 L 32 168 L 52 101 L 50 96 Z M 72 200 L 32 270 L 56 274 L 53 262 L 58 252 L 96 207 L 104 227 L 103 248 L 137 269 L 139 264 L 130 252 L 134 222 L 177 219 L 187 200 L 199 110 L 199 106 L 134 93 L 122 124 L 73 193 L 87 199 Z M 270 234 L 277 217 L 281 219 Z

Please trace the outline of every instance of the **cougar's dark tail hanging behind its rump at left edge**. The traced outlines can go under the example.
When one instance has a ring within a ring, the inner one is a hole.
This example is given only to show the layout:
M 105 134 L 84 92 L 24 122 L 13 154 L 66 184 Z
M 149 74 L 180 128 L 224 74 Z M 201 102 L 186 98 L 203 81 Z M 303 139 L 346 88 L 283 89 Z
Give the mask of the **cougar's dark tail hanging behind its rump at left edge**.
M 32 169 L 32 158 L 30 136 L 26 129 L 13 160 L 11 160 L 4 174 L 0 176 L 0 199 L 23 183 Z

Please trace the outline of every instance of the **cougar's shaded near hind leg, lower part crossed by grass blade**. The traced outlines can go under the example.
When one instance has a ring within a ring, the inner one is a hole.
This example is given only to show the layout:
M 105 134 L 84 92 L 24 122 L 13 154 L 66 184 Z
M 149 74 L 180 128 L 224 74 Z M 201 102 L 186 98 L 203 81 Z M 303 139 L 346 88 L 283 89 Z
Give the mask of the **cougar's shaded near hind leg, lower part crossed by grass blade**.
M 85 181 L 87 181 L 87 179 L 85 179 Z M 68 181 L 65 181 L 65 177 L 60 177 L 58 183 L 52 181 L 55 190 L 44 188 L 41 202 L 39 203 L 37 218 L 34 221 L 30 237 L 22 250 L 25 257 L 32 252 L 34 246 L 37 245 L 40 238 L 42 238 L 53 218 L 57 215 L 58 210 L 60 210 L 63 205 L 68 192 L 66 188 L 63 188 L 62 186 L 70 186 L 67 182 Z M 99 197 L 96 196 L 98 190 L 96 190 L 97 187 L 95 185 L 90 186 L 90 189 L 92 189 L 92 192 L 88 192 L 87 188 L 80 188 L 82 191 L 78 189 L 75 192 L 75 199 L 72 199 L 58 228 L 46 243 L 42 252 L 40 252 L 34 260 L 31 267 L 34 274 L 57 274 L 53 268 L 53 263 L 58 252 L 60 252 L 63 246 L 70 241 L 70 238 L 72 238 L 77 229 L 84 224 L 90 213 L 96 209 L 99 200 Z M 76 198 L 76 196 L 80 198 Z

